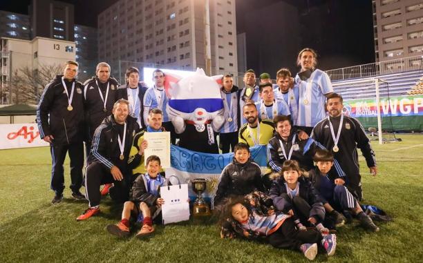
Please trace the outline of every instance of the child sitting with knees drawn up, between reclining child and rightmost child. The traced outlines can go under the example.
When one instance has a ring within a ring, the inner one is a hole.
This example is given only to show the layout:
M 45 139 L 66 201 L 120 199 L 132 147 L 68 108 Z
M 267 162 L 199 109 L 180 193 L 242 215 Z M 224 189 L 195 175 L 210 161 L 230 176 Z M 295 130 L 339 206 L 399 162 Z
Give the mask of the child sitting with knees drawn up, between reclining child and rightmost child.
M 276 211 L 292 215 L 301 230 L 305 228 L 303 224 L 308 224 L 323 235 L 329 233 L 329 229 L 322 224 L 325 208 L 310 182 L 301 176 L 297 161 L 283 162 L 281 173 L 274 177 L 269 195 Z

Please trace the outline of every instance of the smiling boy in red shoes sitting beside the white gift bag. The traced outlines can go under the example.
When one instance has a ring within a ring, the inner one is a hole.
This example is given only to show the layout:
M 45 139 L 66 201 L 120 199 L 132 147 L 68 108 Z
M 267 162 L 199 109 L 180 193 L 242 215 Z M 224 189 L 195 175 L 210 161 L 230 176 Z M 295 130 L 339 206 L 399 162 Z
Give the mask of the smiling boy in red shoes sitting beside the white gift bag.
M 139 175 L 129 193 L 131 201 L 124 203 L 122 211 L 122 220 L 118 224 L 109 224 L 107 231 L 112 235 L 118 237 L 128 237 L 129 219 L 131 213 L 138 216 L 142 213 L 142 227 L 137 233 L 136 237 L 144 237 L 154 232 L 153 219 L 160 214 L 161 206 L 164 204 L 164 199 L 160 198 L 160 186 L 165 185 L 165 179 L 160 173 L 160 158 L 156 155 L 151 155 L 146 161 L 147 173 Z

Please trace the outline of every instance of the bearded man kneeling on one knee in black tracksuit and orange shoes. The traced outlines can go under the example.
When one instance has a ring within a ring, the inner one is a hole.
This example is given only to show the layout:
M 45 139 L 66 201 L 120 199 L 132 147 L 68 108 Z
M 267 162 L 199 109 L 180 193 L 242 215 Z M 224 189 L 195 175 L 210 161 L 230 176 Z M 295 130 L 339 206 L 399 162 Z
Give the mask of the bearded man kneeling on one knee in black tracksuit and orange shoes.
M 138 130 L 136 119 L 129 116 L 129 101 L 116 101 L 112 115 L 104 119 L 94 133 L 93 149 L 85 176 L 88 209 L 77 217 L 77 221 L 86 220 L 100 212 L 102 184 L 113 183 L 110 196 L 116 202 L 128 199 L 132 169 L 127 162 L 133 136 Z

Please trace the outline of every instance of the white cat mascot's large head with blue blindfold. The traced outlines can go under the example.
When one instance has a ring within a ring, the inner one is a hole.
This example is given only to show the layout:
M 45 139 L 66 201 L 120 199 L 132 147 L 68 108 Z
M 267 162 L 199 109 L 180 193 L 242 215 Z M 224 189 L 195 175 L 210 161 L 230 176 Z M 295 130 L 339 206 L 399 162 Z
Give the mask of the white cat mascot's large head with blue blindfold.
M 189 77 L 171 76 L 166 88 L 170 97 L 167 114 L 172 121 L 180 117 L 189 124 L 204 125 L 223 115 L 221 77 L 208 77 L 201 68 Z

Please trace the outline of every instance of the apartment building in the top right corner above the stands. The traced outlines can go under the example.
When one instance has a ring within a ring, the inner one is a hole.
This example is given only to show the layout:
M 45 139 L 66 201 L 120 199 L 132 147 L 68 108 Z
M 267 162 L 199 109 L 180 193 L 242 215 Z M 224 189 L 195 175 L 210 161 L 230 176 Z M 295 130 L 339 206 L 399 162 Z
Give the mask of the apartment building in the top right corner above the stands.
M 421 0 L 373 0 L 376 61 L 423 55 L 423 3 Z M 395 61 L 391 68 L 418 66 L 421 60 Z

